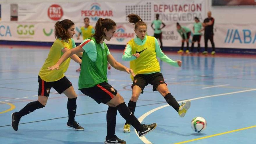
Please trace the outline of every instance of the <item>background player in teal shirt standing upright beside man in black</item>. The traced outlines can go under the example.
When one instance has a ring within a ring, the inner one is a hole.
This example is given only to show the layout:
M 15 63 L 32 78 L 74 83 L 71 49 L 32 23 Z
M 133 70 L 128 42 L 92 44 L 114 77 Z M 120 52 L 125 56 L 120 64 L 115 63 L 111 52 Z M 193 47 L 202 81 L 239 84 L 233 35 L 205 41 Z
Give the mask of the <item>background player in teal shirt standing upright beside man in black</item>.
M 193 39 L 192 39 L 192 45 L 191 45 L 191 52 L 193 52 L 194 49 L 194 43 L 197 41 L 198 47 L 197 47 L 197 53 L 200 52 L 200 40 L 201 40 L 201 33 L 202 31 L 202 23 L 198 19 L 198 17 L 195 17 L 195 23 L 193 26 Z

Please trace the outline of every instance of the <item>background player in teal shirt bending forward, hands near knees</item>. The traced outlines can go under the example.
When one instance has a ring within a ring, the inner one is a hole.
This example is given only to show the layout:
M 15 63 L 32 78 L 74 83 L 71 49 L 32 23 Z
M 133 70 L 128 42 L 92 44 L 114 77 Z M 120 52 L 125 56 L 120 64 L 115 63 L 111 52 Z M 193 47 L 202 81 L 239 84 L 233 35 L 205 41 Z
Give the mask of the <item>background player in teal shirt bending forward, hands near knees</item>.
M 179 51 L 177 51 L 177 53 L 183 53 L 184 42 L 186 41 L 187 42 L 186 53 L 188 54 L 189 53 L 189 37 L 190 37 L 190 34 L 191 34 L 191 30 L 189 28 L 187 28 L 186 26 L 181 26 L 177 22 L 177 32 L 182 37 L 181 49 Z

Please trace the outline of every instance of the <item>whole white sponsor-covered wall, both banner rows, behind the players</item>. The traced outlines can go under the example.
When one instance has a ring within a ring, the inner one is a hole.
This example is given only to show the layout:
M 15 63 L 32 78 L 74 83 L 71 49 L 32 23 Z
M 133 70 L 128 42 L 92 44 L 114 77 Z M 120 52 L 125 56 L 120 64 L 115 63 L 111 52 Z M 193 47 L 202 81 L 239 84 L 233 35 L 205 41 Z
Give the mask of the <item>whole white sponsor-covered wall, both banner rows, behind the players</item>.
M 71 19 L 76 30 L 83 26 L 83 18 L 89 17 L 94 25 L 99 17 L 113 19 L 118 26 L 115 38 L 109 44 L 125 45 L 134 38 L 133 25 L 127 23 L 129 13 L 140 15 L 148 24 L 148 34 L 153 35 L 150 25 L 156 13 L 166 24 L 163 29 L 163 46 L 178 47 L 181 38 L 176 22 L 192 29 L 194 17 L 201 21 L 212 11 L 215 18 L 214 39 L 216 47 L 256 49 L 256 19 L 253 6 L 211 6 L 211 0 L 0 0 L 0 40 L 54 41 L 54 24 L 57 20 Z M 17 5 L 17 8 L 15 7 Z M 16 10 L 17 9 L 17 10 Z M 17 12 L 17 21 L 10 16 Z M 76 40 L 80 42 L 80 40 Z M 191 38 L 192 39 L 192 38 Z M 201 45 L 204 46 L 203 37 Z M 208 44 L 209 46 L 210 43 Z

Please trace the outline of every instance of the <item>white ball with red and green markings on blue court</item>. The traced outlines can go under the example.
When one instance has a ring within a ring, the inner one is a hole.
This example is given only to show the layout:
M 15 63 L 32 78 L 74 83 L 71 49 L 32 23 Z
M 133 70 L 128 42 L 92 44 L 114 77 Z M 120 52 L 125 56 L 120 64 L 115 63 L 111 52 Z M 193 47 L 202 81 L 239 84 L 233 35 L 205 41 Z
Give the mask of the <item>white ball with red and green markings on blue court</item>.
M 191 121 L 191 128 L 195 132 L 202 132 L 206 129 L 206 120 L 200 116 L 195 117 Z

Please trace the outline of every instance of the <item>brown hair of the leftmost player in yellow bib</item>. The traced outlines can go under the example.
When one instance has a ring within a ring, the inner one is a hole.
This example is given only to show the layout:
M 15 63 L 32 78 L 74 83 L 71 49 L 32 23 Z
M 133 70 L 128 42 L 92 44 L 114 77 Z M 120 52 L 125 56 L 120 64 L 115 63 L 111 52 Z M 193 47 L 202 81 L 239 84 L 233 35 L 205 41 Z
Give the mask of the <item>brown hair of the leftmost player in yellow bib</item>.
M 55 38 L 61 38 L 63 40 L 67 40 L 70 38 L 70 36 L 67 33 L 67 30 L 74 25 L 74 22 L 72 22 L 69 19 L 64 19 L 62 21 L 58 21 L 55 24 Z

